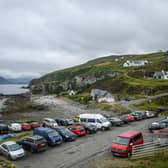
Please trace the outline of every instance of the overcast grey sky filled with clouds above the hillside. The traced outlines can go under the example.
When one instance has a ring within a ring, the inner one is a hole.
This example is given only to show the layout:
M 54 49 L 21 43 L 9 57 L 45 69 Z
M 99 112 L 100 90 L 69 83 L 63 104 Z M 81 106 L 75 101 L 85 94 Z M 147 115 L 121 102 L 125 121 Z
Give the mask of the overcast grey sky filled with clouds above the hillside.
M 0 76 L 168 49 L 168 0 L 0 0 Z

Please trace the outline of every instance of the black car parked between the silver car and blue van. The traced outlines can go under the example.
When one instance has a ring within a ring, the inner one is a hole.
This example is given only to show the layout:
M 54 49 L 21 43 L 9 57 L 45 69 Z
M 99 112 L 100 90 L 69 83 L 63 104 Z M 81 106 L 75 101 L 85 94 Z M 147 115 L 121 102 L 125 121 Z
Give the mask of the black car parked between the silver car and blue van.
M 30 152 L 45 151 L 48 148 L 47 141 L 39 135 L 26 137 L 17 141 L 19 145 L 22 145 L 23 149 Z

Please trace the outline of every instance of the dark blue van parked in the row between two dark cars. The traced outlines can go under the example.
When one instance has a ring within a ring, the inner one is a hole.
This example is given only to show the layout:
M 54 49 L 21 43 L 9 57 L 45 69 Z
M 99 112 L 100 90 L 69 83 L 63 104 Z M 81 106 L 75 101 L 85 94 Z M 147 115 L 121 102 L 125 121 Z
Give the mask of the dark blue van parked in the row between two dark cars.
M 62 143 L 63 140 L 61 135 L 51 128 L 44 128 L 44 127 L 35 128 L 33 131 L 33 135 L 40 135 L 44 137 L 48 142 L 48 145 L 59 145 Z

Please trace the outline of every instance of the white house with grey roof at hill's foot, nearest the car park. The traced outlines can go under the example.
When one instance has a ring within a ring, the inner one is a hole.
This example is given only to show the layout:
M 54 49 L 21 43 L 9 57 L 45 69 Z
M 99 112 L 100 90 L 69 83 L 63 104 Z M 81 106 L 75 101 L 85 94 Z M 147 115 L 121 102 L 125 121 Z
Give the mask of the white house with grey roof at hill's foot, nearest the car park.
M 108 103 L 112 103 L 115 101 L 114 97 L 111 95 L 111 93 L 109 93 L 106 90 L 101 90 L 101 89 L 92 89 L 91 90 L 91 96 L 93 98 L 93 100 L 96 100 L 97 102 L 108 102 Z

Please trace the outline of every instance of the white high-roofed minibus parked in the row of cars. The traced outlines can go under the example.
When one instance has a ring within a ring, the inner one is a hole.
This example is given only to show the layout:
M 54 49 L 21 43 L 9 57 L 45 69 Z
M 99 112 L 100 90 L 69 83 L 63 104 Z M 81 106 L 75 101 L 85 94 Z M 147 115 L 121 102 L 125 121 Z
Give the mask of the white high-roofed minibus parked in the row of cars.
M 101 114 L 80 114 L 80 121 L 85 123 L 92 123 L 98 129 L 110 129 L 111 123 Z

